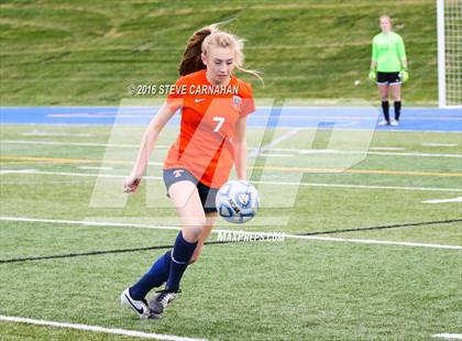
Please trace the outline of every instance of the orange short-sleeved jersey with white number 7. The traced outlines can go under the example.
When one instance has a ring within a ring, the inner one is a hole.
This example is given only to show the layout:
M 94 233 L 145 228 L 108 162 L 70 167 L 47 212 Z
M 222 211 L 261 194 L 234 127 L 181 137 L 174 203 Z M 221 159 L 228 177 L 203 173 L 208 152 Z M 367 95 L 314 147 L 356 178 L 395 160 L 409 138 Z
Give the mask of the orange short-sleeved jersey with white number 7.
M 172 90 L 167 103 L 182 109 L 182 122 L 164 169 L 186 168 L 204 185 L 219 188 L 234 163 L 235 123 L 255 111 L 252 87 L 234 76 L 226 87 L 212 86 L 204 69 L 179 78 Z

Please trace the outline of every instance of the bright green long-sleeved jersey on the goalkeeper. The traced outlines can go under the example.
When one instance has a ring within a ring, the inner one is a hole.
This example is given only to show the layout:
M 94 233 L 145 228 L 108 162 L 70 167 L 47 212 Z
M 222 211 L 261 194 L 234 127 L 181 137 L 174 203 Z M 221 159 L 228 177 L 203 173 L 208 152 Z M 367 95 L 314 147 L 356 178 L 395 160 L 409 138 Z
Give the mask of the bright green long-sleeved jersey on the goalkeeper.
M 398 73 L 402 61 L 406 59 L 403 38 L 395 32 L 378 33 L 372 40 L 372 61 L 377 63 L 380 73 Z

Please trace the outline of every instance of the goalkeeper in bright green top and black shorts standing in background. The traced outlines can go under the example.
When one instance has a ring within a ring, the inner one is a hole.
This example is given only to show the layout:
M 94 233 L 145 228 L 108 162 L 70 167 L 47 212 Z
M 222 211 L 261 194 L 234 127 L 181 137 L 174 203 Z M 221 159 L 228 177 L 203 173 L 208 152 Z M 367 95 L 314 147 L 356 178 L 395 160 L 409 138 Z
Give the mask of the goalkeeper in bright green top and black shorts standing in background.
M 399 125 L 402 110 L 402 81 L 409 78 L 407 59 L 403 38 L 392 31 L 392 20 L 388 15 L 380 18 L 382 33 L 372 41 L 372 62 L 369 77 L 376 80 L 382 100 L 384 120 L 381 125 Z M 389 120 L 388 88 L 395 100 L 395 120 Z

